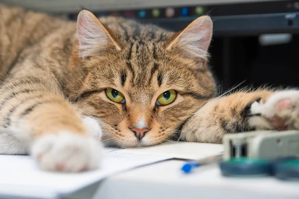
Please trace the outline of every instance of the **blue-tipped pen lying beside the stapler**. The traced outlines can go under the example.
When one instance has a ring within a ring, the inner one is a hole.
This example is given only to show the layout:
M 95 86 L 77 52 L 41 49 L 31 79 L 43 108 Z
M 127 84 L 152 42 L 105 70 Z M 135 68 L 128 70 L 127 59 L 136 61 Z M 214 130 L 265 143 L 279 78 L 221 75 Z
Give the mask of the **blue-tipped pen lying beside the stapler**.
M 190 161 L 188 163 L 185 163 L 183 165 L 183 167 L 181 168 L 181 170 L 184 173 L 188 174 L 192 171 L 192 169 L 197 168 L 199 166 L 220 162 L 220 161 L 222 161 L 222 157 L 223 157 L 223 155 L 220 154 L 220 155 L 216 155 L 216 156 L 203 158 L 203 159 L 200 159 L 197 161 Z

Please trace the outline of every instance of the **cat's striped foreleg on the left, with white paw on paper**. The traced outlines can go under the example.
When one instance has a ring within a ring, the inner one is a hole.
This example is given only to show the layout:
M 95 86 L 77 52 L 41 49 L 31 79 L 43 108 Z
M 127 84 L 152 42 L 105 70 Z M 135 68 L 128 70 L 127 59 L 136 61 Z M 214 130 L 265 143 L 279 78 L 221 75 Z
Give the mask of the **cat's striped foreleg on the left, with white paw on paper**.
M 44 170 L 94 169 L 102 155 L 94 135 L 100 137 L 101 129 L 64 100 L 56 82 L 23 76 L 2 86 L 0 153 L 28 152 Z

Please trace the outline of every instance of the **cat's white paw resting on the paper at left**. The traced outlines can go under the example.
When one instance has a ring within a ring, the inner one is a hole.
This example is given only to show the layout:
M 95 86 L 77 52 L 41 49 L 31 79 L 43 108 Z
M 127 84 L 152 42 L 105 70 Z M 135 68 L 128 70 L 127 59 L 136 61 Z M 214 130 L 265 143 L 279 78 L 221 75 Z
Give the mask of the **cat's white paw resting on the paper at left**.
M 40 137 L 33 143 L 31 154 L 47 171 L 80 172 L 99 166 L 102 145 L 92 137 L 62 131 Z

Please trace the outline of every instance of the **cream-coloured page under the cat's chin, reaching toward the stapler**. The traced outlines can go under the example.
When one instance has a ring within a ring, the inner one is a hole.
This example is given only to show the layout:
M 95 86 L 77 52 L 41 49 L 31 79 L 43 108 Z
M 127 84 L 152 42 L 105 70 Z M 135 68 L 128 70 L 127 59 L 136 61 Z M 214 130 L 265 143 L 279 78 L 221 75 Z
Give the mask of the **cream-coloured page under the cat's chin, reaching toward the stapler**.
M 164 144 L 127 148 L 118 150 L 117 153 L 152 155 L 166 158 L 179 158 L 187 160 L 199 160 L 202 158 L 219 155 L 224 152 L 222 144 L 208 144 L 197 142 L 166 142 Z

